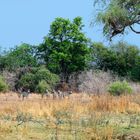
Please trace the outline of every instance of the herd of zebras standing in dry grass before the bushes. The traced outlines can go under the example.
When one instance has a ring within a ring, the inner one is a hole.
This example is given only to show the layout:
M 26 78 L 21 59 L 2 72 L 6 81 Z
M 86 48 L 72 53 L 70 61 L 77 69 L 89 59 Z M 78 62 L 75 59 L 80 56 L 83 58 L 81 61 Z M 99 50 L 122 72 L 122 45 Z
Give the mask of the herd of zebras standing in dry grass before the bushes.
M 60 90 L 52 90 L 49 91 L 46 89 L 45 93 L 42 93 L 41 96 L 42 98 L 47 97 L 47 98 L 53 98 L 53 99 L 64 99 L 65 97 L 68 97 L 72 94 L 73 92 L 70 91 L 60 91 Z M 29 94 L 31 94 L 30 90 L 23 90 L 19 89 L 18 92 L 18 97 L 22 98 L 24 100 L 25 98 L 28 98 Z

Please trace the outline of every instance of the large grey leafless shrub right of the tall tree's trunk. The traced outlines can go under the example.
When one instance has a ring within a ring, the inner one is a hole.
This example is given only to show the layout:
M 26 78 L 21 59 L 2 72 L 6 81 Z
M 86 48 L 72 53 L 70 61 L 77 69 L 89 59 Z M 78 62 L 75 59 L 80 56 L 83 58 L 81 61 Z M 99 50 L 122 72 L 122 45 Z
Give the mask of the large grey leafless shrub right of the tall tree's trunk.
M 111 72 L 101 70 L 88 70 L 74 73 L 69 79 L 69 86 L 72 90 L 91 94 L 104 94 L 108 85 L 119 77 Z

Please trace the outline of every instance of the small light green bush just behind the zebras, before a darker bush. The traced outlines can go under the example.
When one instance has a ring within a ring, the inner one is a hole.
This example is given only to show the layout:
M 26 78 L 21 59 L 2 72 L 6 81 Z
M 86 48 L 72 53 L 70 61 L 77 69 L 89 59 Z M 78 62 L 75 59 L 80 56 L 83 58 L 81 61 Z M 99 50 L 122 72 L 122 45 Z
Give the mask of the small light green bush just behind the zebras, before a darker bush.
M 44 94 L 46 92 L 46 89 L 50 90 L 50 85 L 48 85 L 45 80 L 41 80 L 37 85 L 36 91 L 38 93 Z

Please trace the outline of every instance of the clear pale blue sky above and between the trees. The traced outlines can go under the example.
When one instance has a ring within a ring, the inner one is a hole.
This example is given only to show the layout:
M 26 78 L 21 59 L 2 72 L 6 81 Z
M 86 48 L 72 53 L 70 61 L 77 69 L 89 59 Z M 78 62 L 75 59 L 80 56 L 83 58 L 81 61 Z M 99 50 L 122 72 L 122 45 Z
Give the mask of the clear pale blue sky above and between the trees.
M 0 46 L 12 48 L 21 43 L 38 45 L 56 17 L 83 18 L 83 31 L 94 42 L 108 43 L 101 26 L 90 26 L 94 19 L 93 0 L 0 0 Z M 119 40 L 140 46 L 140 35 L 129 34 Z

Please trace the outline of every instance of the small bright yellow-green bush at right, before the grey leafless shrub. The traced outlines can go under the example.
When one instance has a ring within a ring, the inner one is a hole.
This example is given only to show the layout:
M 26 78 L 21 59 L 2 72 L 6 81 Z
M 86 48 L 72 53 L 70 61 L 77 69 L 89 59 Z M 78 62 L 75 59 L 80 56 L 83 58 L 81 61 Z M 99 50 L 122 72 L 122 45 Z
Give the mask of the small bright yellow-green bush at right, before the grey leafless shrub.
M 123 81 L 123 82 L 116 81 L 109 86 L 108 92 L 111 95 L 119 96 L 122 94 L 132 93 L 132 88 L 126 81 Z

